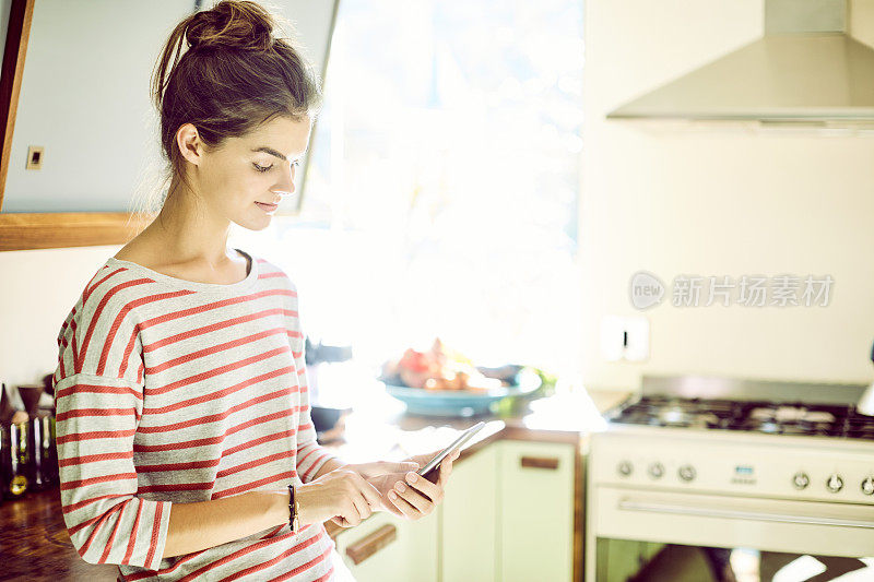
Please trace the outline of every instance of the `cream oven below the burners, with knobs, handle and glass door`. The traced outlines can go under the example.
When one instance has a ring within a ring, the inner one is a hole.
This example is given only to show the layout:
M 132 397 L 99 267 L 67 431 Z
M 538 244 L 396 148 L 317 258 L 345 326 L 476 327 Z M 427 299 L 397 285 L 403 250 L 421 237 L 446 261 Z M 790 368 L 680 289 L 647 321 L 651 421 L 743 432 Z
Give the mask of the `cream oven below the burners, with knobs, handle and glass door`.
M 874 581 L 873 440 L 663 425 L 591 437 L 587 581 Z

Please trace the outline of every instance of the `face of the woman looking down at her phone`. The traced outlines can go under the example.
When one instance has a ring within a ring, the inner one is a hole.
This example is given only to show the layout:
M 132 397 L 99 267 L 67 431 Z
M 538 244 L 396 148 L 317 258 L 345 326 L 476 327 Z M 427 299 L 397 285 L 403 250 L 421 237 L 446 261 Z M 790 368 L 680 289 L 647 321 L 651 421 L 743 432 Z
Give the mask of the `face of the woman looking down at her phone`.
M 275 117 L 199 156 L 193 178 L 210 212 L 250 230 L 267 228 L 274 204 L 295 191 L 295 168 L 311 127 L 308 116 L 298 121 Z

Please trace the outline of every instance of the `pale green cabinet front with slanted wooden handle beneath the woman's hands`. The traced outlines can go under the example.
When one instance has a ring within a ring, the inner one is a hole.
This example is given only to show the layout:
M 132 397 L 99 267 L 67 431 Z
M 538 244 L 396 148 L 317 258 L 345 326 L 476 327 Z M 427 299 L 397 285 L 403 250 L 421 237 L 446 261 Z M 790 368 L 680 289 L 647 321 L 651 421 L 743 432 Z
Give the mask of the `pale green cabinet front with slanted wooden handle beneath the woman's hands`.
M 416 521 L 380 511 L 334 542 L 357 582 L 438 582 L 438 525 L 439 511 Z

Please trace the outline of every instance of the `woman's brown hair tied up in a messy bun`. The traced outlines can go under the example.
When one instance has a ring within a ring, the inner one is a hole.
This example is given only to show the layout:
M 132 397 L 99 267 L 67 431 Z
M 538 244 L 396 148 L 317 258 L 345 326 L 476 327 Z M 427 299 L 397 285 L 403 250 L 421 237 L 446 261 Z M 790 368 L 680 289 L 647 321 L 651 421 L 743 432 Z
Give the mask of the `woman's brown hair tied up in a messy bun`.
M 176 144 L 185 123 L 197 128 L 210 151 L 275 116 L 302 119 L 318 114 L 322 106 L 318 73 L 287 34 L 274 34 L 282 31 L 280 25 L 293 29 L 258 2 L 221 0 L 173 29 L 151 80 L 161 147 L 169 162 L 162 190 L 167 181 L 170 189 L 179 180 L 189 185 Z M 179 58 L 185 44 L 187 50 Z M 162 205 L 170 193 L 162 198 Z

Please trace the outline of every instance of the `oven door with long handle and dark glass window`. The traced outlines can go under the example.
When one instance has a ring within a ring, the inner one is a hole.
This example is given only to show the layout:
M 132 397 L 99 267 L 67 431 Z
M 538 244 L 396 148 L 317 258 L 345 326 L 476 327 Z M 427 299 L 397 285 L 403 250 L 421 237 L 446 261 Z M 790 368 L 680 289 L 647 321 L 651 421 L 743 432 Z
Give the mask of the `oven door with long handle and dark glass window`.
M 761 582 L 778 571 L 779 580 L 817 573 L 823 577 L 817 580 L 830 580 L 823 573 L 828 571 L 857 571 L 870 577 L 859 580 L 874 580 L 874 568 L 867 570 L 874 559 L 866 558 L 874 556 L 874 506 L 603 486 L 593 501 L 589 527 L 597 542 L 590 542 L 589 551 L 595 565 L 587 580 L 680 580 L 684 559 L 702 580 L 702 573 L 731 580 L 719 572 L 732 563 L 735 574 L 755 570 L 749 579 Z

